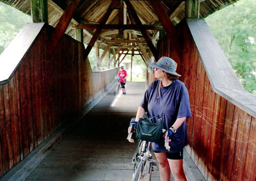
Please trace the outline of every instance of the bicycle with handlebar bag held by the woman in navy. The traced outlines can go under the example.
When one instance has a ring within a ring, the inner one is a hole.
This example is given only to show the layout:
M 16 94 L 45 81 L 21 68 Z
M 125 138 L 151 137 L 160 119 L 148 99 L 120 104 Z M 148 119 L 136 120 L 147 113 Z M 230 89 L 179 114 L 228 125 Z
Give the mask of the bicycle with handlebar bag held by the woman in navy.
M 134 140 L 131 138 L 132 132 L 134 131 L 134 120 L 135 118 L 133 117 L 130 121 L 130 132 L 127 136 L 129 142 L 134 142 Z M 168 135 L 167 131 L 168 130 L 166 129 L 162 129 L 162 132 L 164 132 L 165 134 L 164 146 L 166 149 L 170 149 L 170 146 L 166 141 Z M 155 160 L 152 158 L 150 141 L 138 140 L 137 147 L 132 157 L 132 163 L 134 163 L 134 172 L 131 178 L 132 181 L 151 180 L 151 173 L 152 171 L 154 171 L 153 166 L 156 166 L 156 163 Z

